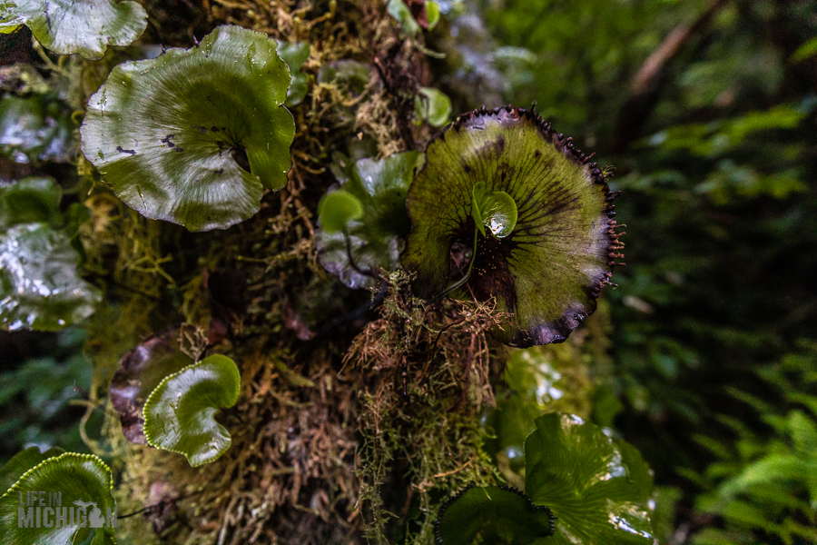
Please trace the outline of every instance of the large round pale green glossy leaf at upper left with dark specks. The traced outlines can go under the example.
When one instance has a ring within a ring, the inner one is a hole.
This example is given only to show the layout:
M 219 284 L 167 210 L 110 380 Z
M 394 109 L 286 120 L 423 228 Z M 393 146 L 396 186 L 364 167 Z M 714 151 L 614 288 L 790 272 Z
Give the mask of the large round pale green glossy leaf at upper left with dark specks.
M 192 49 L 116 66 L 88 103 L 85 157 L 145 217 L 191 231 L 246 220 L 290 170 L 290 71 L 276 48 L 224 25 Z

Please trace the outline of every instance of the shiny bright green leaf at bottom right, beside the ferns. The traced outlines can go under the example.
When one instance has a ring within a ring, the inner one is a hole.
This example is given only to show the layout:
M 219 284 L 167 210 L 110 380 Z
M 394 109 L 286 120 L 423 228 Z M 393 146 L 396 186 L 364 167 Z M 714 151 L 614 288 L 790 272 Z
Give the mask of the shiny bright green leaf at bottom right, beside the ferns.
M 553 545 L 652 545 L 644 460 L 577 416 L 550 413 L 525 441 L 525 491 L 556 516 Z

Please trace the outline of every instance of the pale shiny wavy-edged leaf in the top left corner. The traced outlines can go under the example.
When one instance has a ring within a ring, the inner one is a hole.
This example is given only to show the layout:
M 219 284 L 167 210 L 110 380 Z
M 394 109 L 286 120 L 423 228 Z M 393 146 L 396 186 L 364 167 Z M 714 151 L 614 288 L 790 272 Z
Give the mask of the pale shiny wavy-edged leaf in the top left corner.
M 0 28 L 26 25 L 45 48 L 86 59 L 101 59 L 108 45 L 131 45 L 147 26 L 147 14 L 135 2 L 6 0 L 2 7 Z

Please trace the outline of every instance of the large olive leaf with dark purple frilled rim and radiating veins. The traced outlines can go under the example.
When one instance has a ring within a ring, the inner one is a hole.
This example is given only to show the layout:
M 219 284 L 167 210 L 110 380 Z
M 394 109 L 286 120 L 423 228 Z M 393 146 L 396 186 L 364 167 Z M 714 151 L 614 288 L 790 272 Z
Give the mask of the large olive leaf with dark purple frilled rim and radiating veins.
M 564 341 L 596 310 L 617 247 L 612 193 L 604 174 L 586 162 L 570 139 L 523 109 L 459 117 L 428 144 L 408 191 L 412 229 L 401 261 L 417 273 L 415 292 L 432 299 L 462 276 L 452 250 L 473 247 L 474 192 L 484 184 L 488 194 L 507 193 L 517 222 L 504 238 L 477 234 L 459 296 L 495 297 L 497 311 L 512 313 L 494 330 L 512 346 Z M 497 209 L 502 201 L 497 197 Z

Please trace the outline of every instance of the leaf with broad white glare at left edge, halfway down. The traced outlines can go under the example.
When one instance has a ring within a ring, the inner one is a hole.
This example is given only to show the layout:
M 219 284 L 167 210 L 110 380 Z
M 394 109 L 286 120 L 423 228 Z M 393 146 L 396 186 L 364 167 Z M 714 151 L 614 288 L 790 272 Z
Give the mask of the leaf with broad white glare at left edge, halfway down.
M 0 233 L 0 327 L 56 331 L 94 313 L 102 296 L 78 263 L 68 237 L 42 223 Z

